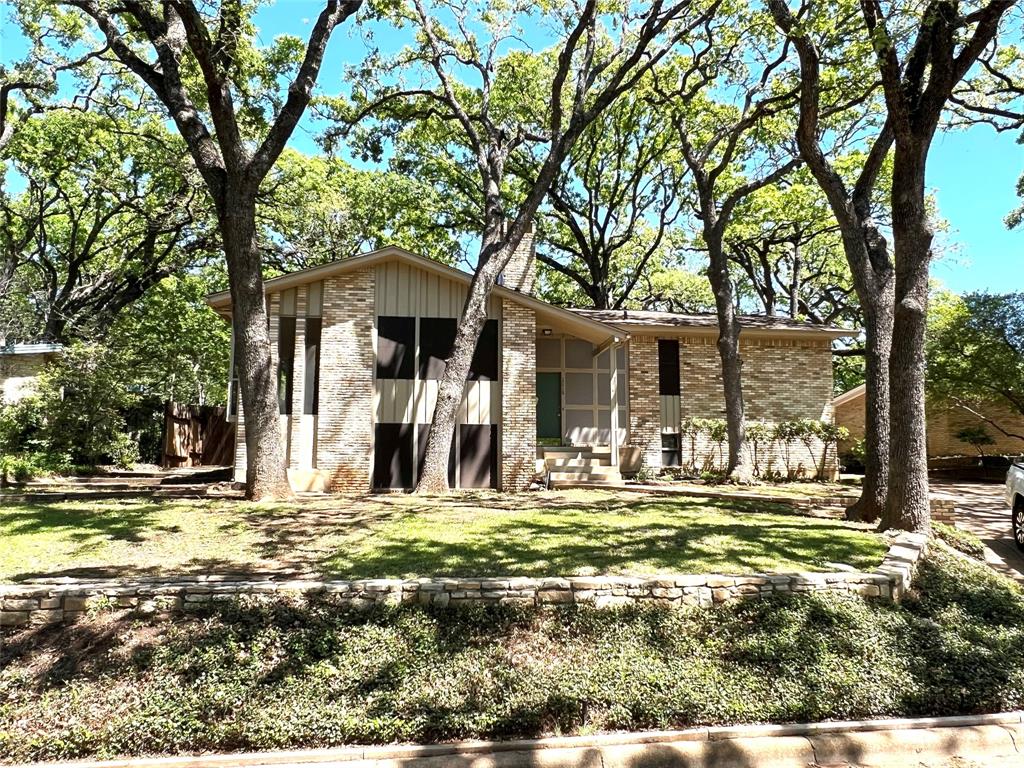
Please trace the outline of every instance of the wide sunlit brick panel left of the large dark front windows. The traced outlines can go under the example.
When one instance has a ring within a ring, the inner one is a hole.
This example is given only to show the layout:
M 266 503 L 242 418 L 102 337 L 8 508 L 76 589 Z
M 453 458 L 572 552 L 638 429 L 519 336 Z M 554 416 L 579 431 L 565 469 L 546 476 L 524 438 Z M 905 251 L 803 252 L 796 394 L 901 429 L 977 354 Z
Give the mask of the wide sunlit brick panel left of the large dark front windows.
M 370 487 L 374 291 L 372 268 L 324 282 L 316 466 L 335 492 Z

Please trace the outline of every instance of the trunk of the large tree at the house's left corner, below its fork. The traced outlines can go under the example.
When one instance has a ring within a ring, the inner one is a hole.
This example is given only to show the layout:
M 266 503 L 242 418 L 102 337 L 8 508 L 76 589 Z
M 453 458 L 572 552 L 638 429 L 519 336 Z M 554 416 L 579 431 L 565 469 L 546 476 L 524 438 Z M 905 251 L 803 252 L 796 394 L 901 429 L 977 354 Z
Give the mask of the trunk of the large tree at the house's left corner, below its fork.
M 220 231 L 231 290 L 236 370 L 246 427 L 246 498 L 255 501 L 292 495 L 285 469 L 278 406 L 278 372 L 263 293 L 262 263 L 256 246 L 256 203 L 251 196 L 225 194 Z

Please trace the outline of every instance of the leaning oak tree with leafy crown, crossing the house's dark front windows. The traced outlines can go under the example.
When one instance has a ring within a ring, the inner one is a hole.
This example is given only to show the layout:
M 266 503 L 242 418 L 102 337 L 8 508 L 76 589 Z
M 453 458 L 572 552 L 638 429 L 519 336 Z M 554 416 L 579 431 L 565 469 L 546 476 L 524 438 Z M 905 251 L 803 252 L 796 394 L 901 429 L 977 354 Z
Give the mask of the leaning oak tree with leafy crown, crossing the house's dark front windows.
M 378 80 L 361 94 L 359 114 L 383 117 L 395 132 L 409 121 L 431 121 L 431 130 L 445 137 L 444 152 L 462 155 L 461 165 L 473 169 L 475 178 L 464 188 L 482 223 L 454 350 L 438 386 L 418 490 L 447 488 L 456 414 L 488 296 L 575 142 L 717 6 L 718 0 L 625 0 L 610 7 L 596 0 L 543 7 L 462 0 L 399 5 L 395 20 L 412 26 L 416 43 L 390 66 L 375 70 L 404 80 Z M 522 50 L 527 26 L 551 41 L 542 46 L 543 53 Z M 515 67 L 534 71 L 526 92 L 501 89 L 508 82 L 501 70 Z M 422 86 L 410 87 L 411 78 Z M 516 153 L 530 156 L 537 172 L 528 181 L 519 180 L 513 198 L 509 162 Z

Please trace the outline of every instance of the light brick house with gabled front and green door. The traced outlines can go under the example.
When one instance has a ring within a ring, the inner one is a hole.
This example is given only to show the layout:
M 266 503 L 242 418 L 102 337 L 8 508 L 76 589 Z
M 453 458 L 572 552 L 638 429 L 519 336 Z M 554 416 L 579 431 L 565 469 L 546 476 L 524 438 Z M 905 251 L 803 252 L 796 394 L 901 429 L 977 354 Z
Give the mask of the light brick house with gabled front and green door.
M 617 479 L 620 459 L 688 463 L 681 421 L 725 414 L 715 317 L 553 306 L 531 295 L 535 268 L 526 241 L 490 296 L 453 444 L 453 486 L 524 488 L 539 459 L 561 465 L 566 480 Z M 416 483 L 470 279 L 384 248 L 266 282 L 297 489 Z M 228 293 L 209 302 L 230 316 Z M 743 324 L 748 417 L 830 419 L 831 341 L 850 332 L 769 317 Z M 237 418 L 244 480 L 244 414 Z M 718 464 L 721 446 L 697 453 Z M 801 466 L 813 471 L 820 457 L 804 454 Z

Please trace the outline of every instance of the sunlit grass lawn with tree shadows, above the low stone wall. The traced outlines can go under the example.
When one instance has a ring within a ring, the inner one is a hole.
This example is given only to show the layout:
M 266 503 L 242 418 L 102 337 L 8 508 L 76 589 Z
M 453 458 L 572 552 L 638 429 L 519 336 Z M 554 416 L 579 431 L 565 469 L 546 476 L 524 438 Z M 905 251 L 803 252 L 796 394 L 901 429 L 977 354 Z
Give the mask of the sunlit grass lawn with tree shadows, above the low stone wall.
M 0 579 L 276 572 L 336 578 L 870 568 L 883 540 L 765 502 L 625 492 L 374 496 L 264 506 L 0 508 Z

